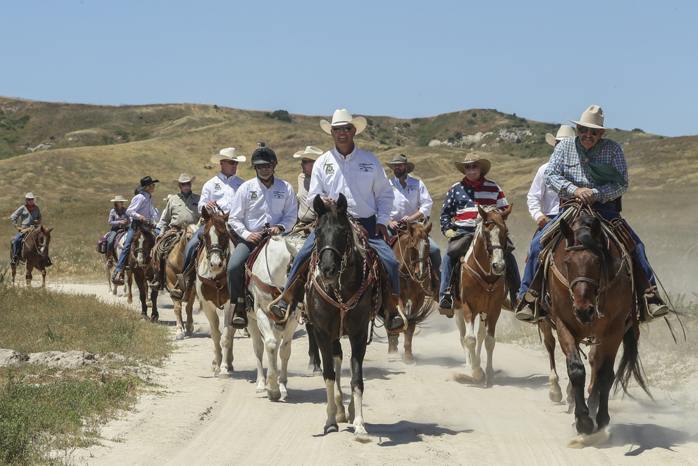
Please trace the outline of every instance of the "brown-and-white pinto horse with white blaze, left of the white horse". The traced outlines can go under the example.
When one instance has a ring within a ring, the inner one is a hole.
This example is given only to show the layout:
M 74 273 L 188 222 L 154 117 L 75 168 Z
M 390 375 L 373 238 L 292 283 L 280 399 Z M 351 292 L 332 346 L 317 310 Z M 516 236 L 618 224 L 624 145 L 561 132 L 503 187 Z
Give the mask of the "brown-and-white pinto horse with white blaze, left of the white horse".
M 228 291 L 228 258 L 232 252 L 232 241 L 228 233 L 228 214 L 209 213 L 204 207 L 201 216 L 205 221 L 202 232 L 204 245 L 196 266 L 196 295 L 201 300 L 211 327 L 211 340 L 214 342 L 214 360 L 211 367 L 218 376 L 223 364 L 228 372 L 233 370 L 232 343 L 235 328 L 230 325 L 232 310 Z M 219 328 L 219 309 L 224 309 L 222 333 Z M 222 347 L 225 348 L 225 355 Z

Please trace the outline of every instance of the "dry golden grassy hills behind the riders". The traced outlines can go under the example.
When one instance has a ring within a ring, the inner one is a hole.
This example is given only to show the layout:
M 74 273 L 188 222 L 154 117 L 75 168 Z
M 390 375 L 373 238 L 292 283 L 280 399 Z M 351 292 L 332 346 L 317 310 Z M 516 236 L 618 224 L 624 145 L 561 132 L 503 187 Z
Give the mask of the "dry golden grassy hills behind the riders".
M 211 154 L 233 146 L 249 156 L 260 140 L 279 155 L 277 175 L 295 182 L 299 163 L 292 154 L 306 145 L 326 150 L 332 143 L 318 124 L 327 117 L 216 105 L 114 107 L 0 97 L 0 173 L 6 186 L 0 192 L 0 216 L 8 218 L 24 193 L 34 191 L 45 223 L 57 226 L 55 254 L 61 259 L 61 249 L 68 246 L 80 251 L 66 253 L 62 259 L 75 265 L 57 266 L 54 273 L 89 275 L 98 268 L 91 248 L 97 232 L 106 230 L 114 194 L 129 198 L 140 177 L 151 175 L 162 181 L 156 191 L 156 198 L 162 199 L 176 191 L 170 181 L 182 172 L 198 178 L 194 187 L 198 191 L 218 171 L 211 166 Z M 487 154 L 493 161 L 491 179 L 516 205 L 510 228 L 523 260 L 534 227 L 526 192 L 537 166 L 551 152 L 544 135 L 554 133 L 558 124 L 483 109 L 414 119 L 366 119 L 369 126 L 357 136 L 359 147 L 376 153 L 381 161 L 389 161 L 396 152 L 408 154 L 417 165 L 415 175 L 434 198 L 435 211 L 460 177 L 453 162 L 473 150 Z M 609 137 L 618 140 L 628 156 L 631 189 L 623 200 L 625 215 L 648 243 L 651 259 L 663 261 L 666 256 L 675 264 L 695 259 L 697 222 L 686 214 L 698 201 L 698 136 L 664 138 L 635 129 Z M 238 174 L 249 178 L 253 173 L 245 163 Z M 66 241 L 64 232 L 70 229 L 78 231 Z M 0 223 L 0 233 L 10 236 L 9 221 Z M 86 270 L 79 265 L 84 261 L 95 265 Z M 686 271 L 677 270 L 667 267 L 662 276 L 683 277 L 686 283 Z

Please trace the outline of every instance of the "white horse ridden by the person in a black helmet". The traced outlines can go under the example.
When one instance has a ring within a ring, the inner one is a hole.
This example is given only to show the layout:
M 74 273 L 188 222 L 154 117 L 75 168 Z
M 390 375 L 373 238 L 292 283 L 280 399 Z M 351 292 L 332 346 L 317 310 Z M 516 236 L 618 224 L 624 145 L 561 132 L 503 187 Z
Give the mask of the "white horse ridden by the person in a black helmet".
M 289 235 L 285 238 L 272 236 L 262 246 L 257 259 L 252 265 L 248 289 L 253 297 L 254 306 L 248 311 L 248 330 L 257 361 L 257 393 L 267 392 L 267 398 L 272 401 L 285 399 L 288 396 L 288 359 L 291 356 L 291 340 L 298 327 L 296 316 L 290 316 L 285 323 L 274 323 L 269 319 L 267 307 L 283 292 L 283 286 L 288 277 L 289 263 L 304 239 L 299 235 Z M 262 367 L 262 356 L 267 351 L 267 377 L 265 379 Z M 279 370 L 281 358 L 281 370 Z

